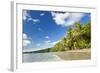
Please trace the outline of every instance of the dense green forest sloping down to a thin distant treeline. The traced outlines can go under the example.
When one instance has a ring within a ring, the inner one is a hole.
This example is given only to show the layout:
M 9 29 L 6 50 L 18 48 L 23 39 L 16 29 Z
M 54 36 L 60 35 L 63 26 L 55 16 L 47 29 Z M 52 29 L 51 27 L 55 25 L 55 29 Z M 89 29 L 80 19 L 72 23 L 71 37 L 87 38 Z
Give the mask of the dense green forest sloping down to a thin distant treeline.
M 89 49 L 91 47 L 91 23 L 81 24 L 80 22 L 70 26 L 66 37 L 51 48 L 33 51 L 30 53 L 58 52 L 75 49 Z M 27 53 L 27 52 L 26 52 Z

